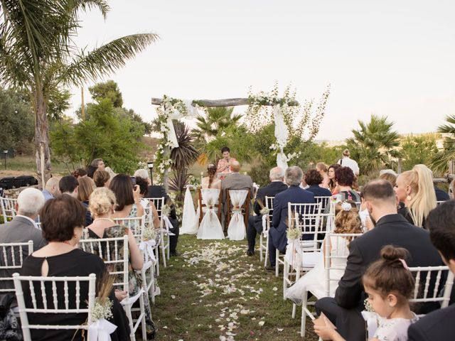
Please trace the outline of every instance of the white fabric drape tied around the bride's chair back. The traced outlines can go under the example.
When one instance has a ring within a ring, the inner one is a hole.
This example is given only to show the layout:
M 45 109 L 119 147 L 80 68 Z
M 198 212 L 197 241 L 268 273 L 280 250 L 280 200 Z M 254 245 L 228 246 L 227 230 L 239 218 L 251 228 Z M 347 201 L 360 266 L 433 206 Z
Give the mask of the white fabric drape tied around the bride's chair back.
M 215 212 L 220 190 L 205 188 L 200 190 L 200 195 L 202 195 L 202 202 L 207 208 L 202 222 L 200 222 L 198 239 L 225 239 L 223 227 L 221 227 L 220 220 L 218 220 L 218 215 Z

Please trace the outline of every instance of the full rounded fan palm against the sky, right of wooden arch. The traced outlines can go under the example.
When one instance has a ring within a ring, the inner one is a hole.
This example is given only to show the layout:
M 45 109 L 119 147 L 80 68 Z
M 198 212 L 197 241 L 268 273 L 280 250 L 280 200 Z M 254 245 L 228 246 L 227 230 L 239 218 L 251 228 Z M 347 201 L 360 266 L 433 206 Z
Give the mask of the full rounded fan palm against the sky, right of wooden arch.
M 353 138 L 347 139 L 351 156 L 358 160 L 360 171 L 370 173 L 390 164 L 397 158 L 400 136 L 392 131 L 394 122 L 387 117 L 371 115 L 370 122 L 358 121 L 360 129 L 353 129 Z

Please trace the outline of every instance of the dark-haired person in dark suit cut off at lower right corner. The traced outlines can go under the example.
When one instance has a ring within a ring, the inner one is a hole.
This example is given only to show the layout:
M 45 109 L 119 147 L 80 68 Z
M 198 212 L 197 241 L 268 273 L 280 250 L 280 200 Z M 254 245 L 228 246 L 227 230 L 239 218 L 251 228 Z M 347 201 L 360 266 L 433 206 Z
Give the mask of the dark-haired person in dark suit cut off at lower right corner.
M 444 202 L 429 213 L 426 223 L 434 247 L 455 274 L 455 201 Z M 455 335 L 455 304 L 424 316 L 407 330 L 410 341 L 449 340 Z M 451 336 L 450 336 L 451 335 Z

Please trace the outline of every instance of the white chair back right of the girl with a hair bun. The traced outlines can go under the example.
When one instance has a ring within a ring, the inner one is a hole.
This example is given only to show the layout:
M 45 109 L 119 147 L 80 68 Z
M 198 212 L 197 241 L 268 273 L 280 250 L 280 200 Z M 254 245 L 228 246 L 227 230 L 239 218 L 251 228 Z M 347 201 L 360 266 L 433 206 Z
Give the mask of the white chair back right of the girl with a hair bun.
M 417 266 L 410 268 L 410 271 L 415 278 L 414 294 L 410 302 L 439 302 L 441 308 L 449 305 L 454 274 L 448 266 Z M 441 281 L 443 275 L 446 276 L 444 286 Z M 433 287 L 430 288 L 430 286 Z

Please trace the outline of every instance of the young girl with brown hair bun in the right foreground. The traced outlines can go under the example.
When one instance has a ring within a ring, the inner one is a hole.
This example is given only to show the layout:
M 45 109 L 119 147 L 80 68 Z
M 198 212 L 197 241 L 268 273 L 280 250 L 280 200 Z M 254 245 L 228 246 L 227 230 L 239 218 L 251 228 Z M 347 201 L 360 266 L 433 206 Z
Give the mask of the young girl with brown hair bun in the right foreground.
M 381 258 L 363 275 L 368 303 L 378 322 L 370 341 L 407 341 L 407 328 L 417 321 L 409 303 L 415 281 L 405 261 L 408 254 L 406 249 L 386 245 L 381 249 Z M 325 316 L 314 330 L 323 340 L 344 340 Z

